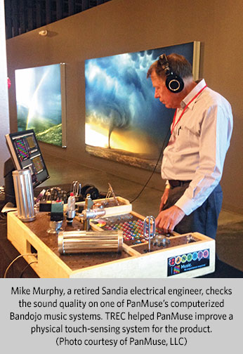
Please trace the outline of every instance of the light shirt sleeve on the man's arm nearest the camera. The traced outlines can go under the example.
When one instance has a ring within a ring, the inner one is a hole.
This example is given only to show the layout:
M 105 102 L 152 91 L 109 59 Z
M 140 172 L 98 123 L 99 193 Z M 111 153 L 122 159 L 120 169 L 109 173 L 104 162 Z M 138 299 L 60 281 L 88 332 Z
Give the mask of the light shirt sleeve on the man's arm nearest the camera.
M 231 107 L 214 105 L 204 112 L 199 136 L 199 165 L 176 206 L 189 215 L 216 188 L 223 173 L 225 155 L 232 133 Z

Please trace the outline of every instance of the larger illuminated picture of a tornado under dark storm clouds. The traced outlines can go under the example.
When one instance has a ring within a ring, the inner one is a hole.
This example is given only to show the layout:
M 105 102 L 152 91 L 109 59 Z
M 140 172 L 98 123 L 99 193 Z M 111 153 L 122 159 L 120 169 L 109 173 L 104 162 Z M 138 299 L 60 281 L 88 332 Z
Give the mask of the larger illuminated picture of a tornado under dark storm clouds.
M 199 42 L 86 60 L 86 151 L 154 168 L 169 140 L 174 112 L 155 99 L 152 82 L 146 79 L 162 53 L 184 55 L 198 79 Z

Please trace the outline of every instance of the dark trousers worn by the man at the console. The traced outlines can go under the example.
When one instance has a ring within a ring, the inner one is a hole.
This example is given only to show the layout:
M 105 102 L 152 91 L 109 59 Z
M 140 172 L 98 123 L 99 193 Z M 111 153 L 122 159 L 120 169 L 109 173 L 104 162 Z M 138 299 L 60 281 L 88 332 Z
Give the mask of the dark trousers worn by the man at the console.
M 188 185 L 189 183 L 185 183 L 185 185 L 181 187 L 171 188 L 163 210 L 173 206 L 183 195 Z M 216 239 L 218 215 L 221 211 L 222 200 L 223 192 L 221 185 L 218 184 L 205 202 L 190 215 L 185 215 L 174 230 L 180 234 L 200 232 L 203 235 Z

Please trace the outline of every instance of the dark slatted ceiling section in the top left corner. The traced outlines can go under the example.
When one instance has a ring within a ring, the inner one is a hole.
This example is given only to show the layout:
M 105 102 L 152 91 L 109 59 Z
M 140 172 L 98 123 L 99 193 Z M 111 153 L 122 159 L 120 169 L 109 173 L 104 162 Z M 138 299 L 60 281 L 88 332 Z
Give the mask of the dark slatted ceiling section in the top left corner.
M 111 0 L 5 0 L 6 39 Z

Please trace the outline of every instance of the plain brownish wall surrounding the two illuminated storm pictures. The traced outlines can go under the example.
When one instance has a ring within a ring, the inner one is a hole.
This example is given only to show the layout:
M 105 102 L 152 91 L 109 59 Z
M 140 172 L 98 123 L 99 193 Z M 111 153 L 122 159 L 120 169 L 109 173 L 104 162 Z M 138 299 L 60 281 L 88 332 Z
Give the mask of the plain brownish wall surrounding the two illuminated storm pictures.
M 67 63 L 67 148 L 41 150 L 114 174 L 145 181 L 149 173 L 92 157 L 85 152 L 84 60 L 201 41 L 200 77 L 232 104 L 235 129 L 223 175 L 223 207 L 242 207 L 242 4 L 220 0 L 116 0 L 51 25 L 47 37 L 36 29 L 7 41 L 8 75 L 23 67 Z M 17 129 L 15 87 L 10 92 L 11 131 Z M 163 187 L 159 173 L 151 185 Z M 237 193 L 235 193 L 237 190 Z

